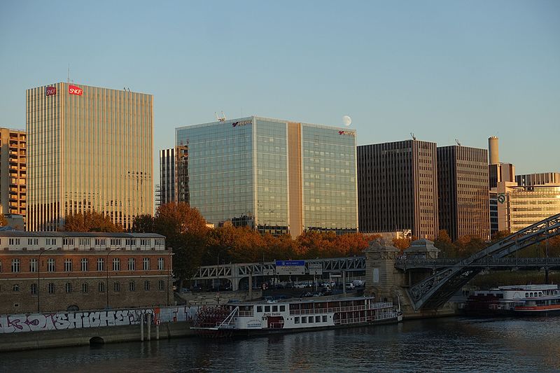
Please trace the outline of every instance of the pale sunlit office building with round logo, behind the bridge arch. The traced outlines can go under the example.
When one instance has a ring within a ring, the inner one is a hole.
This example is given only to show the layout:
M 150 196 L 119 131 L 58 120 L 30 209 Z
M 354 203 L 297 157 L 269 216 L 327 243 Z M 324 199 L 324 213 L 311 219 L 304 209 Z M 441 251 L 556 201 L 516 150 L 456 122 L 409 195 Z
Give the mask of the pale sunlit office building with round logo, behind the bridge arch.
M 519 186 L 501 182 L 496 195 L 498 230 L 514 233 L 560 213 L 560 184 Z

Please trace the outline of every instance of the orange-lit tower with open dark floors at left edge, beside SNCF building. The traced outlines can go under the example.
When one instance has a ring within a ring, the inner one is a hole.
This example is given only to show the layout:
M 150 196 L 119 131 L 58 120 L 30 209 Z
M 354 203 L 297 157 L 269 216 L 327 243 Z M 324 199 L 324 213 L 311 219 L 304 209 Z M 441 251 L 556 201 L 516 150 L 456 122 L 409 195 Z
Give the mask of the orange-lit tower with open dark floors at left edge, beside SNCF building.
M 0 128 L 0 213 L 25 216 L 27 146 L 25 131 Z

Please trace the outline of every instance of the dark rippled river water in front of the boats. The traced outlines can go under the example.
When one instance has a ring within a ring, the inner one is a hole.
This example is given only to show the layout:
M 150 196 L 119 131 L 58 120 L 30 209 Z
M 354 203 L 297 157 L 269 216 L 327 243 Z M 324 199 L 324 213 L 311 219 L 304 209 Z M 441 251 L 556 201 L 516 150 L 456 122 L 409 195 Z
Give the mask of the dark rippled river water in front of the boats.
M 0 372 L 560 372 L 560 317 L 437 318 L 0 353 Z

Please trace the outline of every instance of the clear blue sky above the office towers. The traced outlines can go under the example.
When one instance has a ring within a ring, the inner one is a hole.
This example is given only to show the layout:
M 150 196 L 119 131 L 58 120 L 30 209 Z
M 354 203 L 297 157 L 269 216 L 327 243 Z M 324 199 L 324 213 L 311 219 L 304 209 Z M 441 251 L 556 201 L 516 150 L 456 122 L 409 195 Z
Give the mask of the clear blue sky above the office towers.
M 351 115 L 359 144 L 495 135 L 518 174 L 560 171 L 557 0 L 3 0 L 0 126 L 25 128 L 25 89 L 68 64 L 76 83 L 154 95 L 155 158 L 223 110 Z

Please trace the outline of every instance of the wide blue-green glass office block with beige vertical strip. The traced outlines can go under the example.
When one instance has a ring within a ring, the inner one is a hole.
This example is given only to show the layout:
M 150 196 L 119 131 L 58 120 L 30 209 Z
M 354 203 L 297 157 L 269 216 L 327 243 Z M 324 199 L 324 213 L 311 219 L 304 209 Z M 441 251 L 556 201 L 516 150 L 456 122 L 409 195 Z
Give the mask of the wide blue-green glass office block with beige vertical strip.
M 176 129 L 179 201 L 260 232 L 356 232 L 356 132 L 260 117 Z

